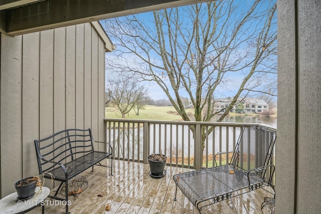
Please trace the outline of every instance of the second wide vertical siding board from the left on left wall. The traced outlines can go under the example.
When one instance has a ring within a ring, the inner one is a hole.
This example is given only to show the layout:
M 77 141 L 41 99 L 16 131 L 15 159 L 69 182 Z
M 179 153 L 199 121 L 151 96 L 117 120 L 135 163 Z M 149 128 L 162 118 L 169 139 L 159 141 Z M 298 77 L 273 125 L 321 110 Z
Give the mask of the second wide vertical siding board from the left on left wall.
M 22 177 L 38 175 L 34 140 L 39 138 L 40 33 L 23 36 L 22 63 Z M 19 130 L 16 130 L 19 131 Z M 14 154 L 12 154 L 14 155 Z

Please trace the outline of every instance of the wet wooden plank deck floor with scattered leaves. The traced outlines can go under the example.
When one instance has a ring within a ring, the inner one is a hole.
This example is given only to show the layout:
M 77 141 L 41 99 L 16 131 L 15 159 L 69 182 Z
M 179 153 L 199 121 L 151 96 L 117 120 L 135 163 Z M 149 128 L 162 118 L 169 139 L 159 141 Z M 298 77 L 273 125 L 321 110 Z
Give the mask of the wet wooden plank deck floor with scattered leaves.
M 176 187 L 173 175 L 189 170 L 166 166 L 166 176 L 155 179 L 149 176 L 148 164 L 115 160 L 113 176 L 110 176 L 110 168 L 107 175 L 105 167 L 95 166 L 93 172 L 87 170 L 81 174 L 87 178 L 88 187 L 78 194 L 78 198 L 70 196 L 69 211 L 77 214 L 199 213 L 180 190 L 177 201 L 173 200 Z M 101 191 L 104 196 L 98 197 Z M 264 196 L 271 195 L 264 189 L 258 189 L 204 208 L 203 212 L 262 213 L 260 206 Z M 111 204 L 110 211 L 105 211 L 106 203 Z M 45 213 L 64 212 L 65 206 L 62 205 L 45 206 Z M 41 207 L 28 213 L 41 213 Z

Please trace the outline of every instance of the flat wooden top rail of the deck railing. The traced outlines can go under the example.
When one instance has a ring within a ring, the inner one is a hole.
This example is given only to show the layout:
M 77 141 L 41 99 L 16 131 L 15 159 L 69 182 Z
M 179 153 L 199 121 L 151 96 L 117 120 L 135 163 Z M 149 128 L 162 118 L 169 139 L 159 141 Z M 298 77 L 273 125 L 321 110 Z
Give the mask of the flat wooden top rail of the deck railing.
M 231 122 L 201 122 L 201 121 L 171 121 L 171 120 L 134 120 L 134 119 L 116 119 L 116 118 L 105 118 L 105 122 L 126 122 L 126 123 L 144 123 L 149 124 L 172 124 L 172 125 L 208 125 L 208 126 L 228 126 L 228 127 L 242 127 L 244 125 L 252 126 L 264 126 L 273 131 L 276 131 L 276 127 L 263 124 L 263 123 L 231 123 Z

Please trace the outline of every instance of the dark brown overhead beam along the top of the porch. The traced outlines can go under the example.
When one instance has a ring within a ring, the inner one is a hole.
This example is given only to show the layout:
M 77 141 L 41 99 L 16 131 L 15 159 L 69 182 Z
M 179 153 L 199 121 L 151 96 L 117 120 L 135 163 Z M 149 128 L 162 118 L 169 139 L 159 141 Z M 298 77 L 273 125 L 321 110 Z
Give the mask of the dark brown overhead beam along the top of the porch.
M 12 36 L 209 0 L 5 0 L 0 31 Z

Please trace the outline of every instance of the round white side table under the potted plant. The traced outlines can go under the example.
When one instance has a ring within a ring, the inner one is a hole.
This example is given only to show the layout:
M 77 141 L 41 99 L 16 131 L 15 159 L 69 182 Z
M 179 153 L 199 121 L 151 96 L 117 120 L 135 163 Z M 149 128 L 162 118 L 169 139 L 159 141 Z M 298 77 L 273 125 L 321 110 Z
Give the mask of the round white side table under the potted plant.
M 50 193 L 48 187 L 43 186 L 42 192 L 39 192 L 39 186 L 36 188 L 36 193 L 32 198 L 27 200 L 17 200 L 18 194 L 14 192 L 0 200 L 0 210 L 1 213 L 26 213 L 37 206 L 42 205 L 41 202 L 46 199 Z M 45 213 L 45 206 L 42 206 L 42 213 Z

